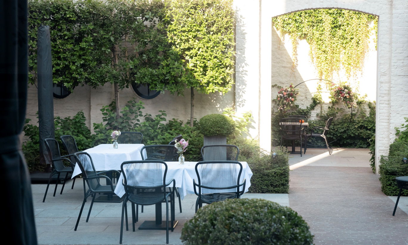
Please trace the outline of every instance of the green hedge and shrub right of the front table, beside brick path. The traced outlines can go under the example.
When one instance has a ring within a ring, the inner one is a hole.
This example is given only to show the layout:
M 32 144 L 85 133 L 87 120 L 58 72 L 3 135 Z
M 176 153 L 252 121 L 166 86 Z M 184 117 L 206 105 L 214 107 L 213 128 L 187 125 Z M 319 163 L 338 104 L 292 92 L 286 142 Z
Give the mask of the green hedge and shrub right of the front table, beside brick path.
M 239 161 L 247 162 L 253 176 L 248 193 L 289 193 L 288 152 L 275 148 L 275 158 L 266 154 L 255 140 L 237 138 L 228 144 L 239 147 Z

